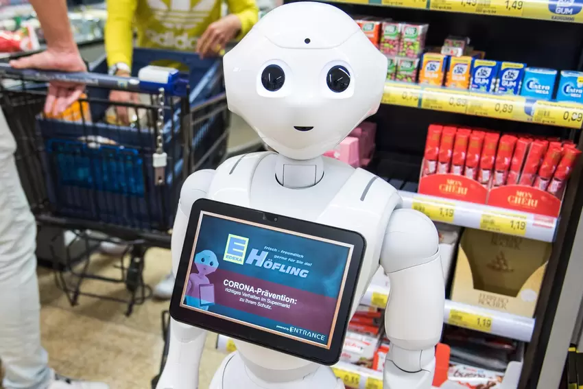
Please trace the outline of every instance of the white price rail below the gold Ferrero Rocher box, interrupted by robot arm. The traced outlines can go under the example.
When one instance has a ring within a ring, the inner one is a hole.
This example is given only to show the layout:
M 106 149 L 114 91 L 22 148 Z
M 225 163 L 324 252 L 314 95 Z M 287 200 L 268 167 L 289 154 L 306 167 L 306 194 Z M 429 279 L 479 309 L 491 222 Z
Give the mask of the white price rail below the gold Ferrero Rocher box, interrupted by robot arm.
M 388 287 L 370 285 L 360 303 L 385 309 L 389 292 L 390 288 Z M 534 329 L 534 319 L 532 318 L 505 314 L 451 300 L 445 301 L 443 322 L 523 342 L 530 342 Z

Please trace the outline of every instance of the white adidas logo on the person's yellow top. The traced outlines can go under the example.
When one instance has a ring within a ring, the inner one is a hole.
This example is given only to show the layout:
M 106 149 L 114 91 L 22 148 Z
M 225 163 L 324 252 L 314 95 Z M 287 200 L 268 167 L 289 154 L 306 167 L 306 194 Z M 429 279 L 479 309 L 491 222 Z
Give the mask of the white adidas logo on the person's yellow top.
M 217 0 L 200 0 L 191 6 L 191 0 L 147 0 L 156 20 L 174 30 L 190 30 L 204 21 L 215 7 Z

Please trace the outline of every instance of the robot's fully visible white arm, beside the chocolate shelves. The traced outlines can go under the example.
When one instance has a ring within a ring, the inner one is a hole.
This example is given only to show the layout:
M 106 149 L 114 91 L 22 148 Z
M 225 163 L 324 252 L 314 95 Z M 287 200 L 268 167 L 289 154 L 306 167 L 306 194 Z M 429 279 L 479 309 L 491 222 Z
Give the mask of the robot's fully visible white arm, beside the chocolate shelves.
M 385 389 L 431 388 L 445 300 L 438 244 L 436 227 L 423 213 L 396 209 L 391 215 L 381 251 L 381 266 L 391 283 Z

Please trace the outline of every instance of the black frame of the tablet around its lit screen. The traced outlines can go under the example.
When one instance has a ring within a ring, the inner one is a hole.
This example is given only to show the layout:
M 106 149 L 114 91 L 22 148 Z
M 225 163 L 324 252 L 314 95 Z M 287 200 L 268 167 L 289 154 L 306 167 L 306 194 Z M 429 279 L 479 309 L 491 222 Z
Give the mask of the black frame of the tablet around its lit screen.
M 226 217 L 234 217 L 239 220 L 261 224 L 268 228 L 282 228 L 305 235 L 311 235 L 313 237 L 340 241 L 353 246 L 352 257 L 350 258 L 348 272 L 344 282 L 344 292 L 342 294 L 340 306 L 338 307 L 335 328 L 329 349 L 181 306 L 182 294 L 184 292 L 187 272 L 189 270 L 189 262 L 192 259 L 194 239 L 202 211 L 224 215 Z M 170 302 L 170 315 L 178 322 L 183 322 L 215 333 L 227 335 L 231 338 L 242 340 L 243 342 L 257 344 L 266 347 L 267 349 L 294 355 L 318 364 L 333 365 L 340 360 L 340 354 L 342 353 L 350 309 L 352 308 L 355 299 L 356 285 L 365 250 L 366 240 L 361 234 L 355 231 L 348 231 L 342 228 L 327 226 L 325 224 L 307 222 L 305 220 L 294 219 L 283 215 L 265 213 L 255 209 L 226 204 L 224 202 L 199 199 L 192 204 L 189 224 L 187 226 L 185 241 L 182 246 L 182 254 L 180 255 L 180 263 L 178 265 L 178 274 L 176 274 L 174 293 L 172 294 Z

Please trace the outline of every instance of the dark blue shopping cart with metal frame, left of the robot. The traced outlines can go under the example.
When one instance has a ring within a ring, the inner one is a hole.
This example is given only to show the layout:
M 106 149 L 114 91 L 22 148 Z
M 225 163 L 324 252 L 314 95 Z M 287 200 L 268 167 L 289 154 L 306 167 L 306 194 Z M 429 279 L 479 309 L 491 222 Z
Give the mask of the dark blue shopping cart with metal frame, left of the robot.
M 182 182 L 225 158 L 229 120 L 221 60 L 154 49 L 134 49 L 133 58 L 132 78 L 106 75 L 105 58 L 91 73 L 0 64 L 0 105 L 39 228 L 74 231 L 87 251 L 102 241 L 128 248 L 117 277 L 93 274 L 88 255 L 80 263 L 67 255 L 65 271 L 56 269 L 58 285 L 73 305 L 80 295 L 108 298 L 127 303 L 128 315 L 150 294 L 142 277 L 145 251 L 170 247 Z M 160 59 L 185 64 L 189 73 L 137 73 Z M 86 84 L 86 95 L 60 117 L 41 112 L 53 80 Z M 113 89 L 139 93 L 139 104 L 110 102 Z M 106 121 L 112 106 L 128 108 L 136 120 L 130 126 Z M 125 283 L 130 296 L 84 292 L 86 279 Z

